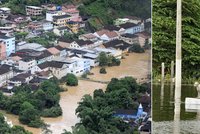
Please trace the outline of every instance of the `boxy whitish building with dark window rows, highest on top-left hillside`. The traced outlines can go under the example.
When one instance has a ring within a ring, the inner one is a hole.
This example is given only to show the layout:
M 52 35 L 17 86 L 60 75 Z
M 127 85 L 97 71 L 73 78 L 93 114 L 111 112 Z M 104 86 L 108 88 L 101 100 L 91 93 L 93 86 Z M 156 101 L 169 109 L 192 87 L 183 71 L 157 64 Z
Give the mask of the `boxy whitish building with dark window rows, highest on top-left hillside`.
M 26 15 L 30 16 L 42 15 L 42 8 L 36 6 L 26 6 Z

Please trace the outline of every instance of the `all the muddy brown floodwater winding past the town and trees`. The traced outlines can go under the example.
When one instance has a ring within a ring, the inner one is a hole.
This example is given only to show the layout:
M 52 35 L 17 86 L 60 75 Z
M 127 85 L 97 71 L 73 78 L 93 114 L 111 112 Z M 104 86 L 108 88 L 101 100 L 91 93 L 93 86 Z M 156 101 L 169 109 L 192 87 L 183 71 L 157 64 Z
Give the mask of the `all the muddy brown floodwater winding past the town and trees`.
M 99 74 L 100 68 L 96 67 L 91 71 L 94 75 L 88 77 L 98 81 L 110 81 L 113 77 L 122 78 L 124 76 L 145 78 L 151 71 L 150 58 L 150 51 L 142 54 L 132 53 L 129 54 L 129 56 L 125 56 L 125 59 L 121 60 L 122 62 L 120 66 L 107 67 L 107 74 Z M 85 94 L 92 94 L 95 89 L 105 90 L 106 84 L 79 80 L 79 85 L 77 87 L 67 88 L 68 91 L 60 94 L 60 105 L 63 110 L 63 115 L 58 118 L 43 118 L 43 120 L 50 125 L 50 129 L 53 131 L 53 134 L 61 134 L 63 129 L 71 131 L 71 126 L 74 126 L 77 122 L 79 122 L 79 119 L 75 115 L 75 109 L 78 106 L 78 102 Z M 23 126 L 25 129 L 33 132 L 33 134 L 41 133 L 40 129 L 30 128 L 20 124 L 18 116 L 6 114 L 4 111 L 0 112 L 3 112 L 8 120 L 12 121 L 14 125 Z

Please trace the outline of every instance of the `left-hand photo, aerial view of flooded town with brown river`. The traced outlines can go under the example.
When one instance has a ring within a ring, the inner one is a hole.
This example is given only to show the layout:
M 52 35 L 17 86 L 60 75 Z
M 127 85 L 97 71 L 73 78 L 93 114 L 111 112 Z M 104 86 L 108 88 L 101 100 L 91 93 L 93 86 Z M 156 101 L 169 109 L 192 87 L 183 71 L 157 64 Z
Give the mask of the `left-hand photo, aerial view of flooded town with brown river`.
M 0 0 L 0 134 L 150 134 L 151 0 Z

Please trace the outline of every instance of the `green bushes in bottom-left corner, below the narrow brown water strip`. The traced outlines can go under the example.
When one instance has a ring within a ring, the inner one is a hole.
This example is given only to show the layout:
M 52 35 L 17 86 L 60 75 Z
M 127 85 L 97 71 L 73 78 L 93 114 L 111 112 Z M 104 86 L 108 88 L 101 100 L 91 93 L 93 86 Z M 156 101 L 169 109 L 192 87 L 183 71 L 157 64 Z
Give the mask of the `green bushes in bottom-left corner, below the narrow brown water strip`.
M 13 126 L 10 127 L 7 122 L 5 122 L 3 114 L 0 113 L 0 134 L 32 134 L 26 131 L 23 127 Z

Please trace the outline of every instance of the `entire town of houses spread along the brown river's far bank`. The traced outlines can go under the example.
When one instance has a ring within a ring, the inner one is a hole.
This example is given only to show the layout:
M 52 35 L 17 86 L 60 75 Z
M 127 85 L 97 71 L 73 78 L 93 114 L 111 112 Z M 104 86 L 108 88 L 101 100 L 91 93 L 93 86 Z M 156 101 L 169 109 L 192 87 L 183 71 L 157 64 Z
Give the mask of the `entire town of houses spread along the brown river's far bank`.
M 44 20 L 31 20 L 44 15 Z M 101 52 L 120 59 L 134 43 L 143 47 L 146 41 L 151 42 L 150 21 L 135 17 L 117 19 L 115 25 L 82 34 L 76 40 L 63 38 L 65 32 L 77 33 L 85 26 L 75 5 L 26 6 L 26 15 L 13 15 L 9 8 L 0 8 L 0 18 L 0 87 L 12 88 L 53 76 L 60 79 L 67 73 L 80 76 L 98 66 Z M 18 31 L 37 36 L 50 31 L 60 38 L 55 46 L 46 48 L 16 41 L 13 33 Z

